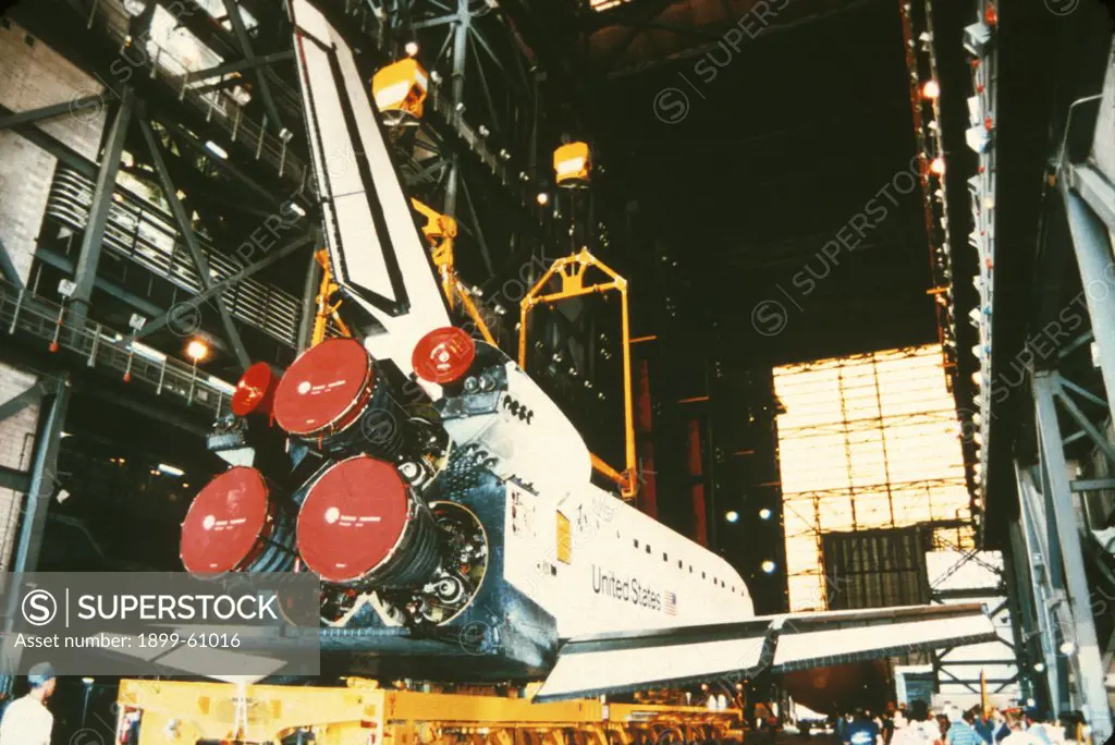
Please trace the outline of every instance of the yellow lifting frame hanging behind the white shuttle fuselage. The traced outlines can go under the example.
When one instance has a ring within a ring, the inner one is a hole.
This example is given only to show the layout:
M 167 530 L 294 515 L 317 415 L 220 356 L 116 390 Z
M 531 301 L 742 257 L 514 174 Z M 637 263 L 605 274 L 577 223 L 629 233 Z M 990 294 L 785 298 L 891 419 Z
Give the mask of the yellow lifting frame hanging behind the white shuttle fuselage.
M 595 268 L 608 275 L 610 281 L 585 283 L 584 273 Z M 556 292 L 542 294 L 542 290 L 554 278 L 561 280 L 561 289 Z M 604 463 L 597 455 L 592 455 L 592 467 L 607 478 L 615 482 L 620 487 L 620 495 L 624 500 L 634 499 L 639 492 L 639 478 L 636 473 L 634 453 L 634 410 L 631 400 L 631 327 L 628 317 L 628 290 L 627 280 L 615 273 L 604 262 L 597 259 L 588 249 L 581 249 L 580 253 L 564 257 L 556 260 L 545 274 L 535 282 L 520 303 L 520 327 L 518 327 L 518 366 L 526 369 L 526 338 L 527 317 L 535 306 L 551 306 L 562 300 L 576 298 L 584 294 L 615 291 L 620 293 L 620 310 L 622 326 L 623 346 L 623 444 L 627 459 L 627 468 L 620 473 L 615 468 Z

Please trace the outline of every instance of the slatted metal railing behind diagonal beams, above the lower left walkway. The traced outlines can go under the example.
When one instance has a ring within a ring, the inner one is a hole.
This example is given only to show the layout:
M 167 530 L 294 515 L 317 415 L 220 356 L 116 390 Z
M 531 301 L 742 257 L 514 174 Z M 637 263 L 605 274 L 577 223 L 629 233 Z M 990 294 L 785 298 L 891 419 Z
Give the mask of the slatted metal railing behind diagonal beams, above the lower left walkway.
M 47 199 L 47 216 L 84 231 L 89 219 L 94 182 L 59 165 Z M 214 282 L 243 270 L 243 264 L 213 249 L 209 238 L 195 233 Z M 155 205 L 117 186 L 105 224 L 104 248 L 139 264 L 191 294 L 203 290 L 201 275 L 171 217 Z M 279 341 L 295 347 L 301 318 L 300 298 L 248 278 L 222 293 L 229 312 Z

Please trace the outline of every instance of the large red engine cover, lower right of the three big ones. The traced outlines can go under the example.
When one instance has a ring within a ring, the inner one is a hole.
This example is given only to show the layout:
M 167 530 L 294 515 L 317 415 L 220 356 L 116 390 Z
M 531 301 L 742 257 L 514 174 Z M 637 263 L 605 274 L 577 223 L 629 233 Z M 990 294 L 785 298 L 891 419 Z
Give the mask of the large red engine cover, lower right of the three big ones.
M 407 486 L 395 466 L 357 455 L 310 486 L 298 513 L 298 552 L 323 580 L 350 582 L 390 558 L 407 520 Z

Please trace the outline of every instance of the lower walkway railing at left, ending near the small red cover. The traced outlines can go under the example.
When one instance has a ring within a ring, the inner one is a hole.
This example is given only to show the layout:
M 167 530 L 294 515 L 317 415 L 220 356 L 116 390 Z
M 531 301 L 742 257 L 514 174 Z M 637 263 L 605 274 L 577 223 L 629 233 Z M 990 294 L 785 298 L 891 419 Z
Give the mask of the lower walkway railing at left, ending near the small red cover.
M 0 280 L 0 340 L 21 337 L 42 342 L 43 352 L 88 368 L 114 373 L 178 406 L 216 420 L 229 412 L 235 388 L 203 370 L 162 355 L 101 323 L 72 323 L 62 306 Z M 6 345 L 0 341 L 0 349 Z

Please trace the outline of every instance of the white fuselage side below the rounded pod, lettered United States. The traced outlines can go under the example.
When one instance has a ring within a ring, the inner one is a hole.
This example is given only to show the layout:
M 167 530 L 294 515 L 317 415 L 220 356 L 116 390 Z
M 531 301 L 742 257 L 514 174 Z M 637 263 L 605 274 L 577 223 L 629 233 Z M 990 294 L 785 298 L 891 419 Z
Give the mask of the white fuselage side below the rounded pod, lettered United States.
M 591 484 L 562 501 L 508 484 L 506 525 L 505 579 L 561 638 L 754 616 L 728 562 Z

